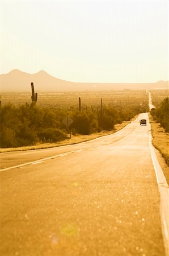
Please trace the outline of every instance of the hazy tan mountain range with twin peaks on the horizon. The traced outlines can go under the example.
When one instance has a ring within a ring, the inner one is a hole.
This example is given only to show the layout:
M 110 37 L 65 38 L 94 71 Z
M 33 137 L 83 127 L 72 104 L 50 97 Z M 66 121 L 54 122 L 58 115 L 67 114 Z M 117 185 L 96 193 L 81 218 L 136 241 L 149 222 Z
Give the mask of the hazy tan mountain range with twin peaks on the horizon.
M 168 81 L 158 81 L 145 84 L 117 84 L 117 83 L 83 83 L 70 82 L 50 76 L 45 71 L 35 74 L 13 69 L 7 74 L 0 75 L 1 92 L 28 92 L 31 90 L 31 82 L 35 85 L 35 90 L 42 92 L 63 92 L 80 90 L 122 90 L 122 89 L 168 89 Z

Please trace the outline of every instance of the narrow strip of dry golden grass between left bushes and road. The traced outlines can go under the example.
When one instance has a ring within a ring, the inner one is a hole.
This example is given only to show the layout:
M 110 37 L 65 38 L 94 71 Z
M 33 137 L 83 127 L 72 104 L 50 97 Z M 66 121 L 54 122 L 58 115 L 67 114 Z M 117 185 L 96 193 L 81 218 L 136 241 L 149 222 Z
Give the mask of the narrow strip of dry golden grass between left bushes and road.
M 101 131 L 100 133 L 93 133 L 90 135 L 72 135 L 71 139 L 69 139 L 68 141 L 65 140 L 57 143 L 43 143 L 43 144 L 36 144 L 34 146 L 27 146 L 27 147 L 0 148 L 0 153 L 11 152 L 11 151 L 23 151 L 23 150 L 37 150 L 42 148 L 59 147 L 59 146 L 65 146 L 69 144 L 77 144 L 85 141 L 90 141 L 91 139 L 96 139 L 105 135 L 116 133 L 116 131 L 121 130 L 124 126 L 128 125 L 130 122 L 136 119 L 136 117 L 137 115 L 134 118 L 132 118 L 130 121 L 117 123 L 115 125 L 115 129 L 111 131 Z

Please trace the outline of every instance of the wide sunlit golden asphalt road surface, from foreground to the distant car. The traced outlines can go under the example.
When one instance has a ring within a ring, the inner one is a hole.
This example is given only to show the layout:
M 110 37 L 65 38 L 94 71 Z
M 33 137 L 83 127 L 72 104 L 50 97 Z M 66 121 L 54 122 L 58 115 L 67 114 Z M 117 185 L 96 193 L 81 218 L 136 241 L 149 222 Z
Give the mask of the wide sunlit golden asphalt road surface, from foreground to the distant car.
M 167 255 L 150 124 L 139 119 L 147 113 L 92 141 L 1 154 L 1 255 Z

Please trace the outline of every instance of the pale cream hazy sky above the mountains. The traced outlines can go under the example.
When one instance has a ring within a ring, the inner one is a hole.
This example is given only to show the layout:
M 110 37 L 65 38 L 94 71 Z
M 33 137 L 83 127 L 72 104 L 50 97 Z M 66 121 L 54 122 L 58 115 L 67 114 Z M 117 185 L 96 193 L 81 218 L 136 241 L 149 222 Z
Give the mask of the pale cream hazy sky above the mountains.
M 1 1 L 0 73 L 168 80 L 168 1 Z

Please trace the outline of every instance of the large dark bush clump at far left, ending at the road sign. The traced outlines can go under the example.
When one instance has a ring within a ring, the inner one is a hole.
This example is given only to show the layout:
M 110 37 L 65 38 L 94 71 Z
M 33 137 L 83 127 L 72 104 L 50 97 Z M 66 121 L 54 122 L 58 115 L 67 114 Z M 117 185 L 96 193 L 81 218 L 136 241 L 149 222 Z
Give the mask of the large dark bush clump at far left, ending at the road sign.
M 37 142 L 57 142 L 66 135 L 56 113 L 36 105 L 7 104 L 1 110 L 1 147 L 29 146 Z

